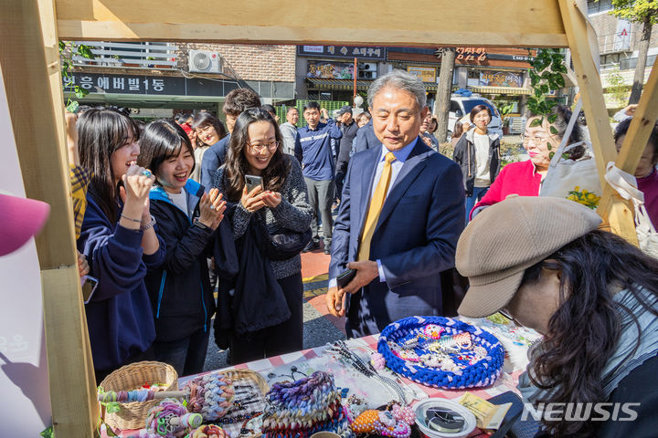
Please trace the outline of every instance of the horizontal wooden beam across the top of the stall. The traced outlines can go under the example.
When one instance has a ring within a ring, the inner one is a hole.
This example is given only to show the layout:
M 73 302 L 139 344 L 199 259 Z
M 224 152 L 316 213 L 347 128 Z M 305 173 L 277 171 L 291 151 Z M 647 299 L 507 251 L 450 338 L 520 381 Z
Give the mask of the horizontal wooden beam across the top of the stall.
M 206 2 L 57 0 L 58 34 L 71 40 L 207 41 L 380 46 L 566 47 L 556 0 L 362 0 L 324 14 L 306 0 Z

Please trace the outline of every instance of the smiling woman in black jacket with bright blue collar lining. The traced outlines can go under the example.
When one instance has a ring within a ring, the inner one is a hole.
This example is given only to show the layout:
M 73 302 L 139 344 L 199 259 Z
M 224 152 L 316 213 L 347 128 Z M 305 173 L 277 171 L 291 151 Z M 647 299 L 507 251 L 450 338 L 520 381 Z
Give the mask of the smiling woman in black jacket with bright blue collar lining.
M 210 286 L 209 243 L 226 208 L 218 190 L 190 179 L 195 168 L 192 144 L 173 120 L 149 123 L 140 140 L 139 162 L 155 175 L 151 214 L 164 240 L 161 266 L 150 269 L 146 287 L 155 318 L 154 353 L 178 375 L 203 370 L 215 297 Z

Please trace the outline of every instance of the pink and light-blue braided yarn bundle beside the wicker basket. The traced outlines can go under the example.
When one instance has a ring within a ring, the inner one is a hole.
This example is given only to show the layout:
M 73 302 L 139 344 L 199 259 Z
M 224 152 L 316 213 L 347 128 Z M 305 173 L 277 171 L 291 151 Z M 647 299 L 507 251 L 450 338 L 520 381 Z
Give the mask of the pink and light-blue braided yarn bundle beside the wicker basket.
M 184 390 L 189 393 L 187 410 L 200 413 L 206 422 L 214 422 L 226 415 L 235 398 L 232 382 L 221 373 L 188 381 Z

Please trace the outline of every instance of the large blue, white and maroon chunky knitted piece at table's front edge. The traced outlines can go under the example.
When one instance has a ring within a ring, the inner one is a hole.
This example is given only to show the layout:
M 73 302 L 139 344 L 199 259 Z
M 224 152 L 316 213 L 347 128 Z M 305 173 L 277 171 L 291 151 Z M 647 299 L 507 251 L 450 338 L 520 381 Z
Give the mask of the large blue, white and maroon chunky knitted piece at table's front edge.
M 299 381 L 275 383 L 266 399 L 263 438 L 308 438 L 321 431 L 352 435 L 331 374 L 315 371 Z

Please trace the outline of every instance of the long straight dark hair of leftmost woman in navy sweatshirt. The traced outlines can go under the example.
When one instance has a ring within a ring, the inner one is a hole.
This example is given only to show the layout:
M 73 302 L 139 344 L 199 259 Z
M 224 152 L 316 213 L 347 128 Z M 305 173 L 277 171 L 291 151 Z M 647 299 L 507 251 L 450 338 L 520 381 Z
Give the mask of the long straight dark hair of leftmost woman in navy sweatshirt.
M 93 172 L 90 196 L 110 221 L 116 222 L 119 184 L 114 184 L 111 154 L 131 139 L 139 140 L 140 130 L 126 112 L 103 107 L 83 112 L 77 128 L 80 165 Z

